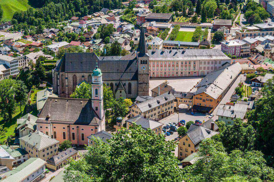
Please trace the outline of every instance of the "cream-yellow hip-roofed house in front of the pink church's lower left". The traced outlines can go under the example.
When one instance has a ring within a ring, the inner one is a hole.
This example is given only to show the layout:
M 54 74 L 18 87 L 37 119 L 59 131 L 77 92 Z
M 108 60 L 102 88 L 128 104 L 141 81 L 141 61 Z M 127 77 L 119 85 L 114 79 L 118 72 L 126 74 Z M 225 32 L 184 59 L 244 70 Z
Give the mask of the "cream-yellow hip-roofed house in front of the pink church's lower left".
M 20 147 L 28 152 L 29 157 L 37 157 L 44 161 L 58 152 L 59 141 L 37 131 L 19 138 Z

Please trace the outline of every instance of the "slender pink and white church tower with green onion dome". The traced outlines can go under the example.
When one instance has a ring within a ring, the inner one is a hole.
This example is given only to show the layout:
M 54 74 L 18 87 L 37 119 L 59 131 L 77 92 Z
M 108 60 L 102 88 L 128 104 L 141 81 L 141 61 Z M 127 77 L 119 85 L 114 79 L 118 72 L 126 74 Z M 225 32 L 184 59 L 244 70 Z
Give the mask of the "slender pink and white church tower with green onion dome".
M 92 72 L 92 108 L 95 110 L 101 120 L 104 120 L 104 106 L 103 106 L 103 81 L 102 72 L 97 66 Z

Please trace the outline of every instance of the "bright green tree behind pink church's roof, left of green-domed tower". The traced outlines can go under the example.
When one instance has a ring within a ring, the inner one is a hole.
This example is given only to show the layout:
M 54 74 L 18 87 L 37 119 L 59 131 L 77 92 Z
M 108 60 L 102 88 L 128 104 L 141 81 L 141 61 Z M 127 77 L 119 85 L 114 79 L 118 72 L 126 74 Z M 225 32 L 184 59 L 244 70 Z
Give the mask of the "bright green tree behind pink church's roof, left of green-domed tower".
M 92 96 L 92 87 L 90 84 L 82 82 L 79 87 L 70 95 L 71 98 L 90 99 Z

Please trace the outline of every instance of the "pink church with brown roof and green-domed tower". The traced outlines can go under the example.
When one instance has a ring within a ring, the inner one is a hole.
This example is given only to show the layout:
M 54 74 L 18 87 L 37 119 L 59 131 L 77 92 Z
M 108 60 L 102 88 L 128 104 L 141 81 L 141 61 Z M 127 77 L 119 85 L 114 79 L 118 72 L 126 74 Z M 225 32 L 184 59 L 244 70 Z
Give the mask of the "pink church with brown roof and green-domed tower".
M 77 145 L 87 144 L 87 136 L 105 130 L 102 72 L 97 64 L 91 85 L 91 99 L 48 97 L 38 115 L 37 130 Z

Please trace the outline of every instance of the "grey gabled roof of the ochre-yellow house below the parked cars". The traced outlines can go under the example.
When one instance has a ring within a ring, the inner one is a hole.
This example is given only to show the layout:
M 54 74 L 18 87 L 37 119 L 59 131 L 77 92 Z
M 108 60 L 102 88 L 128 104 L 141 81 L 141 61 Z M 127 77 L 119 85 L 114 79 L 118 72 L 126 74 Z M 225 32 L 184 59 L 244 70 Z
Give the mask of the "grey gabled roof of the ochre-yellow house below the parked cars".
M 211 130 L 211 122 L 213 122 L 212 119 L 205 121 L 201 126 L 191 124 L 186 135 L 196 145 L 202 140 L 218 134 L 219 132 L 216 132 L 216 130 L 218 130 L 219 127 L 214 123 L 214 131 Z

